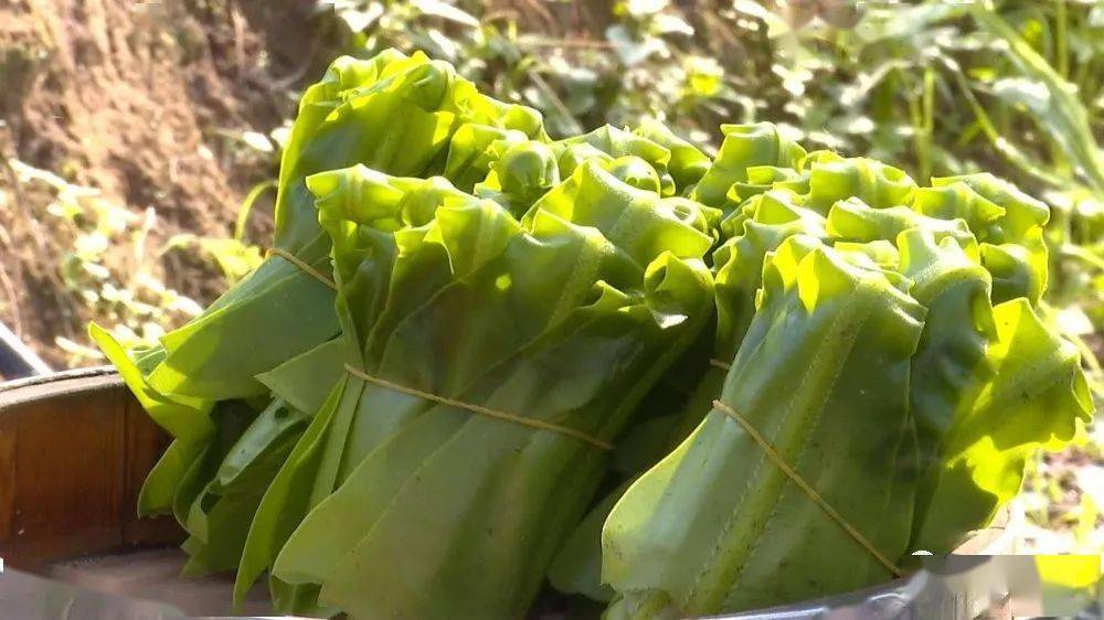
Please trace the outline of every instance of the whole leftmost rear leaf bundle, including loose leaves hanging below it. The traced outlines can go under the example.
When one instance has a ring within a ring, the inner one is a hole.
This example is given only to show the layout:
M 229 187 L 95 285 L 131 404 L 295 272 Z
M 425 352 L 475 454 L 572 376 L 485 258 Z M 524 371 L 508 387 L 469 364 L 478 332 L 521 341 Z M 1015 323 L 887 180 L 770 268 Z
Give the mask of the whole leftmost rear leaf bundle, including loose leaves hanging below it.
M 261 267 L 156 350 L 128 355 L 93 327 L 174 439 L 142 488 L 139 511 L 176 514 L 192 535 L 190 571 L 237 565 L 266 481 L 339 375 L 330 238 L 305 179 L 355 163 L 481 177 L 491 161 L 484 151 L 530 137 L 544 137 L 535 111 L 480 95 L 447 63 L 394 51 L 339 58 L 300 103 L 280 167 L 274 250 Z M 241 463 L 227 458 L 252 459 L 253 478 L 233 483 L 220 468 L 236 475 Z

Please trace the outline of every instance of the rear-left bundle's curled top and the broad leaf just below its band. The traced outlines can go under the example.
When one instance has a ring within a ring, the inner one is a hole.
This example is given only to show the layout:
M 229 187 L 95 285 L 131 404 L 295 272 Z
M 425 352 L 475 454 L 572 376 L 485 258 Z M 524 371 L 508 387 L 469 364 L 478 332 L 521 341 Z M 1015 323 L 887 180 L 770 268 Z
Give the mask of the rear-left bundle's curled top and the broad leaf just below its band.
M 470 124 L 543 136 L 538 113 L 480 95 L 447 63 L 393 51 L 338 58 L 300 101 L 280 162 L 274 245 L 328 275 L 329 237 L 307 177 L 353 164 L 400 177 L 443 171 L 456 130 Z M 261 395 L 255 375 L 337 335 L 332 306 L 325 282 L 269 256 L 202 317 L 164 336 L 168 355 L 149 381 L 163 393 L 211 399 Z M 274 333 L 282 338 L 258 342 Z

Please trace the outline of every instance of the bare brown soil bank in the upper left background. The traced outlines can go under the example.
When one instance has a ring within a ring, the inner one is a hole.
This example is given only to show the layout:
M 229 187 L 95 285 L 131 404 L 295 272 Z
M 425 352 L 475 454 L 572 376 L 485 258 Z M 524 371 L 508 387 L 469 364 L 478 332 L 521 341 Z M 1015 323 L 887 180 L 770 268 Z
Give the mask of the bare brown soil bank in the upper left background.
M 240 136 L 288 118 L 294 87 L 320 71 L 312 4 L 0 2 L 0 151 L 137 213 L 155 207 L 153 247 L 180 232 L 225 237 L 242 196 L 276 172 Z M 18 191 L 10 172 L 0 184 Z M 50 292 L 67 248 L 36 222 L 45 201 L 22 197 L 0 210 L 0 319 L 60 365 L 55 335 L 87 317 Z M 254 220 L 264 238 L 270 215 Z M 187 253 L 159 259 L 167 282 L 200 302 L 222 288 Z

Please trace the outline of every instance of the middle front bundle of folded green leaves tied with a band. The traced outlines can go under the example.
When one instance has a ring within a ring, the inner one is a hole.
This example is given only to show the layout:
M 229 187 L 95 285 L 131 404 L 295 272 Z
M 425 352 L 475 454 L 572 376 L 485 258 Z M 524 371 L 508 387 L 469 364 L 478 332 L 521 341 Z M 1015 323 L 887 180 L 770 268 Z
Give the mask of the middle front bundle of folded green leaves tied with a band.
M 599 440 L 620 430 L 708 317 L 700 255 L 711 239 L 657 211 L 657 194 L 649 202 L 616 179 L 593 181 L 587 195 L 605 197 L 560 215 L 538 204 L 522 224 L 493 202 L 443 201 L 416 239 L 392 235 L 403 250 L 386 259 L 391 278 L 426 269 L 428 289 L 388 284 L 379 267 L 379 281 L 358 279 L 364 264 L 353 257 L 381 255 L 383 232 L 351 209 L 340 213 L 352 220 L 327 224 L 344 235 L 335 238 L 338 310 L 358 366 L 389 383 L 350 376 L 357 397 L 342 399 L 319 438 L 319 501 L 280 550 L 275 579 L 320 586 L 323 605 L 364 618 L 524 610 L 605 459 L 576 437 L 420 394 Z M 319 202 L 323 221 L 339 217 L 333 204 Z M 384 289 L 381 307 L 368 291 Z

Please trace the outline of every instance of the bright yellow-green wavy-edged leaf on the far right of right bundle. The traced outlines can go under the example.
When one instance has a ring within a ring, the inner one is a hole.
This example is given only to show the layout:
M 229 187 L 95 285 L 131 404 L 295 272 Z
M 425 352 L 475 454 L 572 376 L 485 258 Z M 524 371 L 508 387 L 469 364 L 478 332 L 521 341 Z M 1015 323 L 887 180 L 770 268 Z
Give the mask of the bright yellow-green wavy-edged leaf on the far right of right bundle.
M 1025 460 L 1038 448 L 1061 449 L 1092 398 L 1078 349 L 1049 330 L 1025 299 L 994 308 L 996 341 L 986 352 L 991 381 L 973 378 L 941 446 L 938 482 L 931 491 L 913 545 L 949 549 L 984 527 L 1015 495 Z

